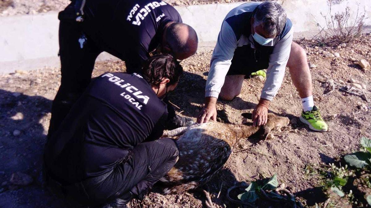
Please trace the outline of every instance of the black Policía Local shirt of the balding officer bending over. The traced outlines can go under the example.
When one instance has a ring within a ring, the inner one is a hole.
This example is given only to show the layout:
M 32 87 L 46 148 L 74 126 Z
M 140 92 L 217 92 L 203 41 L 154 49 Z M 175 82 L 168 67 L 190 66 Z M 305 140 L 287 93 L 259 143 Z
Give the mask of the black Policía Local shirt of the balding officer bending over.
M 124 60 L 128 73 L 140 69 L 159 46 L 167 23 L 182 22 L 178 11 L 161 0 L 89 0 L 84 10 L 86 35 Z

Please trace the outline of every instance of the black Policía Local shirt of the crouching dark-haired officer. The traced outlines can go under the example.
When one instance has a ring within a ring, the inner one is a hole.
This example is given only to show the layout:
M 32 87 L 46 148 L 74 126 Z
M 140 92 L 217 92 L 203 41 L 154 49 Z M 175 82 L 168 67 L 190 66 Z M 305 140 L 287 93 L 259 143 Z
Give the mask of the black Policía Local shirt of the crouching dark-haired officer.
M 102 74 L 47 141 L 48 174 L 72 184 L 109 172 L 136 145 L 160 138 L 166 118 L 166 104 L 140 75 Z

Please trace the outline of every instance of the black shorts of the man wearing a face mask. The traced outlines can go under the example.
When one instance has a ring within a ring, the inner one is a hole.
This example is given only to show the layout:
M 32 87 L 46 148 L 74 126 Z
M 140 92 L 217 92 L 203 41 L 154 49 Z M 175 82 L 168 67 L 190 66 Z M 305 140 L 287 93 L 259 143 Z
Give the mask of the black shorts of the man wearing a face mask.
M 269 66 L 269 56 L 273 47 L 260 46 L 256 50 L 249 45 L 237 47 L 234 51 L 232 64 L 227 75 L 247 75 L 267 69 Z

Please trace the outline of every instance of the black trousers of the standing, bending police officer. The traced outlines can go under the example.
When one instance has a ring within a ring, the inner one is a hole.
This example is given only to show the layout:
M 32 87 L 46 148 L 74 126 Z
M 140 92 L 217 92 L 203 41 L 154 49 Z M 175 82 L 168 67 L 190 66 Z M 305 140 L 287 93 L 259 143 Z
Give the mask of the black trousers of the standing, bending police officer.
M 81 25 L 78 22 L 60 21 L 59 56 L 62 78 L 52 103 L 48 137 L 58 129 L 72 105 L 88 87 L 95 60 L 102 53 L 102 50 L 88 37 L 81 48 L 79 38 L 82 34 Z

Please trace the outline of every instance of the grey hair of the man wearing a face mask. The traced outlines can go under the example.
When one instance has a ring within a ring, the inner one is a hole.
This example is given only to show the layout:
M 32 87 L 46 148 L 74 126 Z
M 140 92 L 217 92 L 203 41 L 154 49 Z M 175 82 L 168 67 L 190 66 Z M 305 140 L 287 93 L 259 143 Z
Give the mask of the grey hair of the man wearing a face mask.
M 278 36 L 286 20 L 286 11 L 275 1 L 264 1 L 254 12 L 254 27 L 261 25 L 269 37 Z

